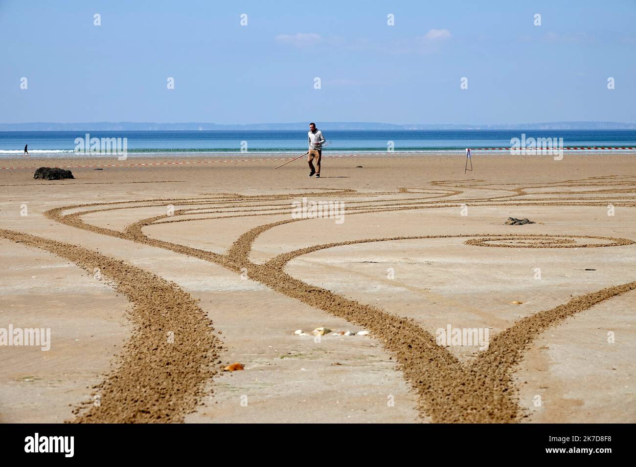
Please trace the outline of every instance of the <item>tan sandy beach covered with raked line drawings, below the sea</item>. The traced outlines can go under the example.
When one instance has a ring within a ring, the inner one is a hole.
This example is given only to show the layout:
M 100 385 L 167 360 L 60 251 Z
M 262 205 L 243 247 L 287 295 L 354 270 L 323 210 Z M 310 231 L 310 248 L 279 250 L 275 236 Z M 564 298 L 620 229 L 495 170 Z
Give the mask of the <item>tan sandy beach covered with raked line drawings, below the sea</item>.
M 234 159 L 3 159 L 1 423 L 636 421 L 633 154 Z

